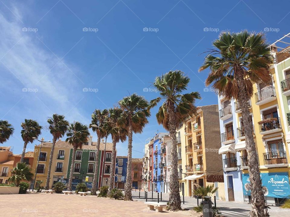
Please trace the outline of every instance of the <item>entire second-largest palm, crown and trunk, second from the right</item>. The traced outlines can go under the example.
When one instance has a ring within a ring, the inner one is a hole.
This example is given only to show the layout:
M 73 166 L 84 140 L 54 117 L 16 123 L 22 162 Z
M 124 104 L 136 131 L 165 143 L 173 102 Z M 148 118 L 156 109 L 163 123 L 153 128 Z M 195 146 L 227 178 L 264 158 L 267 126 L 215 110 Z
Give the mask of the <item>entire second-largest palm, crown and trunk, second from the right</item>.
M 156 114 L 158 124 L 169 131 L 171 140 L 171 170 L 169 182 L 169 207 L 171 210 L 181 209 L 178 181 L 178 159 L 176 145 L 176 128 L 179 124 L 196 113 L 195 99 L 200 99 L 198 92 L 182 94 L 187 90 L 189 77 L 182 71 L 169 71 L 161 77 L 156 77 L 153 86 L 160 92 L 161 97 L 151 100 L 150 107 L 156 106 L 163 99 L 163 104 Z

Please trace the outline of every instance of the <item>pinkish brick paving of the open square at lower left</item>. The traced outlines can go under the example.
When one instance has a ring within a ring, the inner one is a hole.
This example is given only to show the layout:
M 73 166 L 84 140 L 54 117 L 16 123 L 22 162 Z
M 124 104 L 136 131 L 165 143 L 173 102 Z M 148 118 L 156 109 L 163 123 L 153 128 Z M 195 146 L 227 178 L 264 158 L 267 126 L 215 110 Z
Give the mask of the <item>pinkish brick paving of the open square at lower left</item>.
M 188 211 L 183 211 L 188 212 Z M 184 213 L 185 214 L 185 213 Z M 141 201 L 120 201 L 95 196 L 27 193 L 0 195 L 0 216 L 185 216 L 182 212 L 147 210 Z M 186 213 L 188 215 L 188 213 Z

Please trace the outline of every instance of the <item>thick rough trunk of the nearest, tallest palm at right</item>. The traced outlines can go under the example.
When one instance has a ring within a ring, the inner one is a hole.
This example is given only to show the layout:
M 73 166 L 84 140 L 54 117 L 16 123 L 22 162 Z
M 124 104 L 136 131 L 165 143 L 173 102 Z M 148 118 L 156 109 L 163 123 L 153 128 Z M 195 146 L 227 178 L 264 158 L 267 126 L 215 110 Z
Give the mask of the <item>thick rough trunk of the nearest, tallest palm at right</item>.
M 250 183 L 252 185 L 251 191 L 251 217 L 268 217 L 268 208 L 266 206 L 264 193 L 262 190 L 262 181 L 260 178 L 259 162 L 256 154 L 256 147 L 254 143 L 252 121 L 250 120 L 250 112 L 248 108 L 249 96 L 247 95 L 244 85 L 244 76 L 241 68 L 236 68 L 236 79 L 239 87 L 238 102 L 242 109 L 243 126 L 246 137 L 248 171 Z

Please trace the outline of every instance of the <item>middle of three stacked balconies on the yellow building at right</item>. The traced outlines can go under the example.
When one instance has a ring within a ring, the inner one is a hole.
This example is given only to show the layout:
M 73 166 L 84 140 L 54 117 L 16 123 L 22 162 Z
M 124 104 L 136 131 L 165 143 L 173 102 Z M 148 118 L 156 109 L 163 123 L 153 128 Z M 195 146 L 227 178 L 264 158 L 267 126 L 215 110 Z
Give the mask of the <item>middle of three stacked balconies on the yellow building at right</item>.
M 267 135 L 282 131 L 280 118 L 267 118 L 259 121 L 259 130 L 261 135 Z

